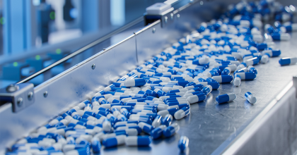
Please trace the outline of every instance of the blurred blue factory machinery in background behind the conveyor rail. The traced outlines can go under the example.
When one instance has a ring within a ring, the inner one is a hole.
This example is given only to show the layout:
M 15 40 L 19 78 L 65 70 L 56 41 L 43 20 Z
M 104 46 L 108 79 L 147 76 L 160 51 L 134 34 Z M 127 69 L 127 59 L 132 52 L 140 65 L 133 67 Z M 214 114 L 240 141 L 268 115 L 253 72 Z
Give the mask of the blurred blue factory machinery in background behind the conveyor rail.
M 0 0 L 0 87 L 141 18 L 146 7 L 163 1 Z M 115 44 L 124 37 L 107 42 Z M 84 51 L 30 82 L 39 85 L 97 52 Z

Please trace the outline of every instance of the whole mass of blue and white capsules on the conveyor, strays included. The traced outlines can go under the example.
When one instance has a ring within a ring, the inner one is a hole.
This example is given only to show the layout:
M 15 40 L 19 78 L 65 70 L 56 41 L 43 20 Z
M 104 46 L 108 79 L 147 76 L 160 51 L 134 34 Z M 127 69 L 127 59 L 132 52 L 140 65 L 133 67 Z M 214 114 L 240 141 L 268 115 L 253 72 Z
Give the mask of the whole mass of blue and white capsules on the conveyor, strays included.
M 296 30 L 295 24 L 288 23 L 291 16 L 275 1 L 230 6 L 218 20 L 202 23 L 191 35 L 97 92 L 91 101 L 81 102 L 19 140 L 7 154 L 91 154 L 99 153 L 101 144 L 148 146 L 151 139 L 170 137 L 180 128 L 173 120 L 188 116 L 190 104 L 204 101 L 221 83 L 233 81 L 240 86 L 241 80 L 254 80 L 253 66 L 279 56 L 281 51 L 272 41 L 286 40 L 289 34 L 284 32 Z M 263 37 L 262 21 L 274 18 L 280 26 L 265 25 L 269 33 Z M 245 95 L 255 104 L 250 92 Z M 235 98 L 233 93 L 223 94 L 216 101 Z M 180 149 L 188 143 L 183 137 Z

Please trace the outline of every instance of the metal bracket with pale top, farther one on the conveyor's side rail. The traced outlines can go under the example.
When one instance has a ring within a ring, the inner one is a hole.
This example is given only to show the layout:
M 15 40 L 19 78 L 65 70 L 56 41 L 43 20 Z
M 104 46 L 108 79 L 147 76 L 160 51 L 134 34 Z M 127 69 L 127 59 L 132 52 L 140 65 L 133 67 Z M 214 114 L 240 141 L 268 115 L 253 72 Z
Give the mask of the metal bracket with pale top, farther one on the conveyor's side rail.
M 146 13 L 144 13 L 144 24 L 148 25 L 155 22 L 156 20 L 161 20 L 161 27 L 165 27 L 170 23 L 173 23 L 174 18 L 174 8 L 170 4 L 156 3 L 152 6 L 146 8 Z

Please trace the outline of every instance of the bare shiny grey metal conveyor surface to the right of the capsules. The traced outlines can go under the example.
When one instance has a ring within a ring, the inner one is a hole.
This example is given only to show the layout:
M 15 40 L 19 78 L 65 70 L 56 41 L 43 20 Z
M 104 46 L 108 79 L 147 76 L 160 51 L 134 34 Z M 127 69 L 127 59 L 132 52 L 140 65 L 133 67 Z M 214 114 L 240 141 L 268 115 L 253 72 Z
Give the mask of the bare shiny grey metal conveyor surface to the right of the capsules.
M 125 147 L 103 149 L 101 154 L 179 154 L 177 142 L 180 136 L 189 137 L 189 154 L 219 153 L 255 118 L 269 101 L 274 99 L 296 75 L 297 66 L 280 66 L 279 58 L 297 56 L 297 32 L 291 33 L 289 42 L 274 42 L 281 49 L 281 56 L 270 58 L 267 64 L 255 66 L 257 78 L 242 81 L 240 87 L 232 84 L 221 84 L 213 90 L 205 101 L 191 104 L 190 116 L 182 120 L 174 120 L 180 125 L 180 131 L 167 139 L 153 140 L 151 147 Z M 216 97 L 220 94 L 234 92 L 235 101 L 217 104 Z M 257 103 L 249 104 L 245 92 L 257 97 Z M 224 143 L 222 146 L 220 146 Z M 218 150 L 216 150 L 218 149 Z

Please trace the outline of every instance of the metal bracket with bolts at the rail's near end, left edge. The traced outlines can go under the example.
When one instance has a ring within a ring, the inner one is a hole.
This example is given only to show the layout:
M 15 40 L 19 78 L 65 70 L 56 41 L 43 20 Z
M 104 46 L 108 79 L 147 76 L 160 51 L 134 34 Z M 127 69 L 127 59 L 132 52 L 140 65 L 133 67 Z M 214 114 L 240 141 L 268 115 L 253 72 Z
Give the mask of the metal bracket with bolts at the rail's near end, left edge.
M 25 109 L 34 101 L 34 85 L 32 83 L 11 84 L 0 89 L 0 106 L 12 103 L 14 113 Z

